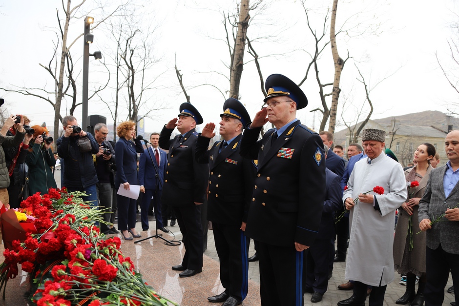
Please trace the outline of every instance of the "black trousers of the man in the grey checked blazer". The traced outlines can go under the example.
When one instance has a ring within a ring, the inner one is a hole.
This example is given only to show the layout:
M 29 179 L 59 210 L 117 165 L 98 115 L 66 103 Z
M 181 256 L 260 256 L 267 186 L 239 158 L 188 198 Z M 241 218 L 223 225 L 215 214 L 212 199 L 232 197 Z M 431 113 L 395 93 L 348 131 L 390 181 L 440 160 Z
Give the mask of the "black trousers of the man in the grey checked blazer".
M 445 287 L 449 271 L 453 277 L 454 298 L 459 305 L 459 255 L 443 250 L 441 244 L 433 250 L 426 247 L 425 268 L 427 283 L 425 285 L 425 306 L 441 306 L 445 298 Z

